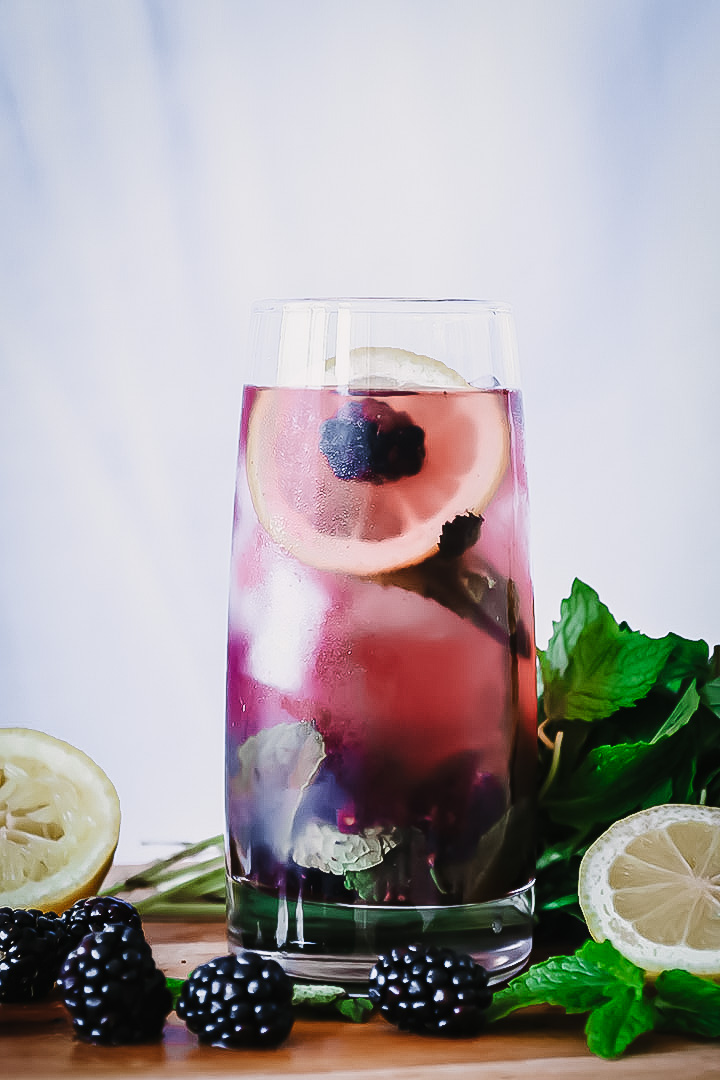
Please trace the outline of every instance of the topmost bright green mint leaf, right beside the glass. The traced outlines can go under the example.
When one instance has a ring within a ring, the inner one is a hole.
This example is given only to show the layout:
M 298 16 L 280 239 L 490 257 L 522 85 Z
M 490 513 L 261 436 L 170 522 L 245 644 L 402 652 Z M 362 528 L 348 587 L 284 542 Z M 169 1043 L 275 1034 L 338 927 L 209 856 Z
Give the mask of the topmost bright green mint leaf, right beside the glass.
M 657 683 L 674 651 L 675 635 L 652 638 L 619 625 L 595 590 L 575 579 L 540 653 L 545 715 L 596 720 L 633 705 Z

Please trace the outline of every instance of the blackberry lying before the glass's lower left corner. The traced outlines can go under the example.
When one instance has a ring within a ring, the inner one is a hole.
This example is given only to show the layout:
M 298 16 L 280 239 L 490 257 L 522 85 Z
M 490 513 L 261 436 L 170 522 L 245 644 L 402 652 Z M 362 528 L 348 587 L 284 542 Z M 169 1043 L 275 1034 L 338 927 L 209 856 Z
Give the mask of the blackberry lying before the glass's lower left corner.
M 178 1016 L 214 1047 L 276 1047 L 293 1027 L 293 982 L 257 953 L 219 956 L 182 986 Z

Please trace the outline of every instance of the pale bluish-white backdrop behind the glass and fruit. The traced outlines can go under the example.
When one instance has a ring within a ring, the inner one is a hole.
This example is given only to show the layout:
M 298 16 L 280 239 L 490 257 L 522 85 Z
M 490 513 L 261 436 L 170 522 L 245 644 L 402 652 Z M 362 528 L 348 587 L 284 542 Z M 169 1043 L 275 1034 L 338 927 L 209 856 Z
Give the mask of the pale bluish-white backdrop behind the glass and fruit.
M 539 644 L 720 639 L 717 0 L 0 0 L 0 724 L 222 828 L 248 309 L 515 310 Z M 282 643 L 279 643 L 279 648 Z

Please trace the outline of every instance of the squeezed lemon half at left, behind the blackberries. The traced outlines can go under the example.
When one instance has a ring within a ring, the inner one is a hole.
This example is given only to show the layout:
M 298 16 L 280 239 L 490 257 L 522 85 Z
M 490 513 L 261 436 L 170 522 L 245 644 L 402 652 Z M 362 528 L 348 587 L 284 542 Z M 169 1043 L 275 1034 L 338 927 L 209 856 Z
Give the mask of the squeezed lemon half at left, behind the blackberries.
M 92 758 L 30 728 L 0 728 L 0 907 L 63 912 L 99 889 L 120 799 Z

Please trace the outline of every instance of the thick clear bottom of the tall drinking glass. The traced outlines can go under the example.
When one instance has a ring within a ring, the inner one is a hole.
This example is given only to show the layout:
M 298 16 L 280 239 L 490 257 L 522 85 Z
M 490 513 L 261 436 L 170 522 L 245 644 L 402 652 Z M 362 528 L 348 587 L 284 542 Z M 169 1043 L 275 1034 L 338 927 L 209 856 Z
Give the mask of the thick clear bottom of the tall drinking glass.
M 303 903 L 228 882 L 228 941 L 276 960 L 294 978 L 367 983 L 380 953 L 421 943 L 468 953 L 491 984 L 525 966 L 532 947 L 532 882 L 501 900 L 445 907 Z

